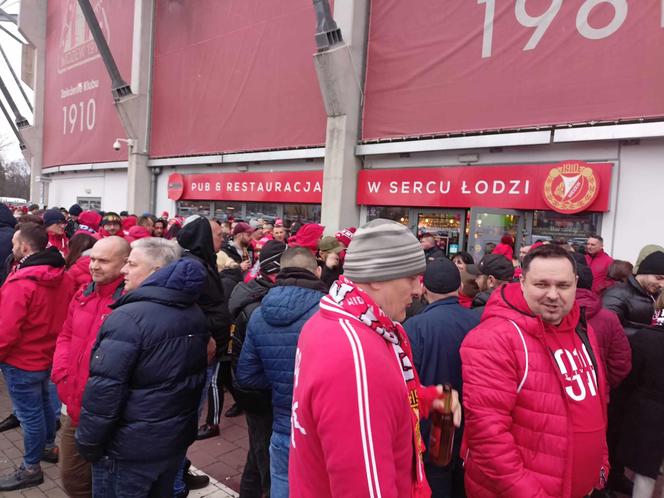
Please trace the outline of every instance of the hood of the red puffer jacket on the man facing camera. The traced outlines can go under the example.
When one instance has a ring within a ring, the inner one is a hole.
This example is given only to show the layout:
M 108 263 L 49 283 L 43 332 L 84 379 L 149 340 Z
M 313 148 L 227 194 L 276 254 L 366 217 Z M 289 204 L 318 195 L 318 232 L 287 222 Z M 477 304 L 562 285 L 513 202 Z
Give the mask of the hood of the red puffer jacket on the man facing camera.
M 579 322 L 580 314 L 579 305 L 574 302 L 572 310 L 563 318 L 560 325 L 556 327 L 573 330 Z M 491 294 L 489 302 L 486 308 L 484 308 L 481 321 L 484 322 L 490 318 L 512 320 L 522 330 L 533 336 L 541 336 L 545 331 L 545 324 L 542 319 L 535 315 L 528 307 L 519 282 L 501 285 Z

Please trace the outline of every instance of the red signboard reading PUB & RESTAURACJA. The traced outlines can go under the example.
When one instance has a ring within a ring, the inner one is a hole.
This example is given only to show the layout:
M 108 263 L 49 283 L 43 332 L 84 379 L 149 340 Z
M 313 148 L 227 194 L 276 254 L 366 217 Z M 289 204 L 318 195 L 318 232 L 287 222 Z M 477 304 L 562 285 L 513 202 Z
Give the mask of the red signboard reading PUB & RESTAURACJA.
M 168 197 L 179 200 L 296 202 L 320 204 L 322 171 L 207 173 L 168 177 Z

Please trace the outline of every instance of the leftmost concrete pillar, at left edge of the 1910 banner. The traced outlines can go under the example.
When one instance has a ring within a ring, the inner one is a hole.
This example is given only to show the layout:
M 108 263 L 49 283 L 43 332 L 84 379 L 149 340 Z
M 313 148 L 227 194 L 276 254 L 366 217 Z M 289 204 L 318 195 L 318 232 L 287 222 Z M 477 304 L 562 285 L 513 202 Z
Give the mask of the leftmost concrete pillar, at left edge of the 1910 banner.
M 44 0 L 21 0 L 18 16 L 18 28 L 21 34 L 35 49 L 32 51 L 32 56 L 35 58 L 34 81 L 29 83 L 34 90 L 32 125 L 21 128 L 19 132 L 26 146 L 23 155 L 30 165 L 30 200 L 40 203 L 48 203 L 48 184 L 39 182 L 43 161 L 46 6 L 47 2 Z

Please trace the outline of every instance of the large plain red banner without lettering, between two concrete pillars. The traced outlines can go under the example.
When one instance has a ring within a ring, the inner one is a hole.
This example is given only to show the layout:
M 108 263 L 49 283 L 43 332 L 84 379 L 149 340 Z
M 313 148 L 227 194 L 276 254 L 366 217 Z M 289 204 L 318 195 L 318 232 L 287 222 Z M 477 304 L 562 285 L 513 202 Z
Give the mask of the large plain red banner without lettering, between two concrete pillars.
M 311 0 L 158 0 L 153 157 L 318 146 Z

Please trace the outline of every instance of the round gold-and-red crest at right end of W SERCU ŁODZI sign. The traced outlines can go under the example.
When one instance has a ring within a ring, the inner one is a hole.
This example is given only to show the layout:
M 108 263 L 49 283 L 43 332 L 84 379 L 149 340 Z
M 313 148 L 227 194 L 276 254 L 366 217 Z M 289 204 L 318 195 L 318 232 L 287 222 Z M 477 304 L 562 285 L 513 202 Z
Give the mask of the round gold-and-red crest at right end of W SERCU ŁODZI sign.
M 579 213 L 595 202 L 599 176 L 583 162 L 566 161 L 551 168 L 544 182 L 544 200 L 559 213 Z

